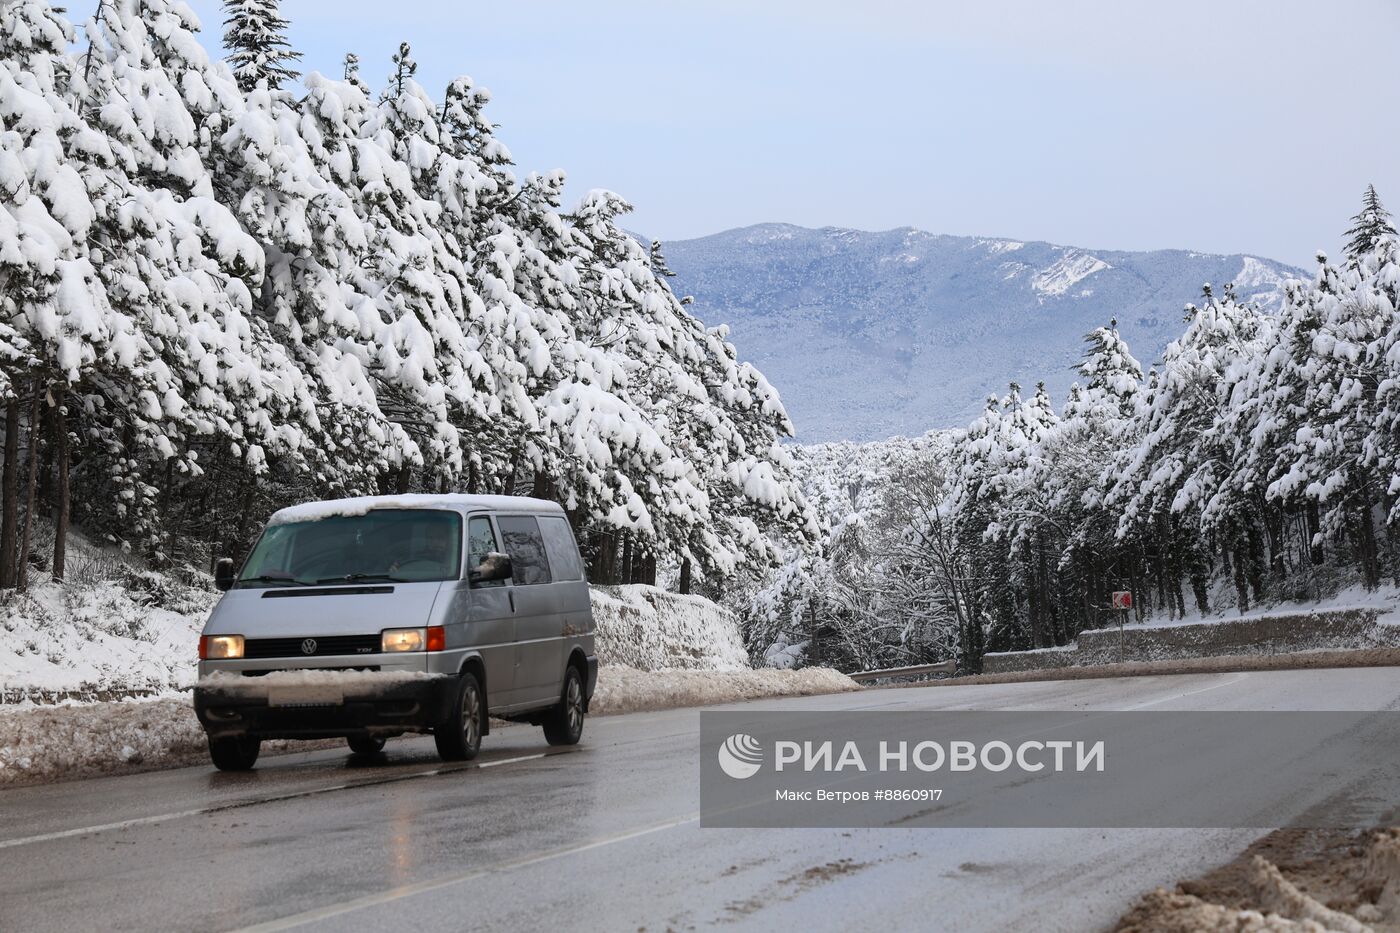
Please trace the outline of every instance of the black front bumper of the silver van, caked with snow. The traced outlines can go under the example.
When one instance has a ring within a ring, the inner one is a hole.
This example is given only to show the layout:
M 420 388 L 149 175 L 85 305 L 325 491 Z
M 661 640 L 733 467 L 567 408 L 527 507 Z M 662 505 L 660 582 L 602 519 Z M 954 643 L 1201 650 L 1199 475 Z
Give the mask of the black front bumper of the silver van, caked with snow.
M 339 691 L 335 685 L 301 688 L 266 681 L 237 675 L 200 681 L 195 714 L 204 731 L 211 737 L 389 737 L 431 730 L 456 702 L 456 682 L 445 675 L 347 678 Z

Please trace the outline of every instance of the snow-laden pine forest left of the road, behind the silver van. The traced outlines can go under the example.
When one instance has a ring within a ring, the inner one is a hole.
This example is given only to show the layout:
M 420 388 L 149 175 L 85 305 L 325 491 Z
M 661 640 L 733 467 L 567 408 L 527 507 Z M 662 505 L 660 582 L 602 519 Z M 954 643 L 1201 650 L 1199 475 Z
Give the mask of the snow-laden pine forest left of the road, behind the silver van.
M 777 392 L 484 88 L 407 45 L 298 76 L 276 0 L 225 4 L 228 62 L 179 0 L 90 6 L 0 0 L 0 587 L 70 523 L 207 567 L 358 493 L 557 499 L 599 583 L 815 541 Z

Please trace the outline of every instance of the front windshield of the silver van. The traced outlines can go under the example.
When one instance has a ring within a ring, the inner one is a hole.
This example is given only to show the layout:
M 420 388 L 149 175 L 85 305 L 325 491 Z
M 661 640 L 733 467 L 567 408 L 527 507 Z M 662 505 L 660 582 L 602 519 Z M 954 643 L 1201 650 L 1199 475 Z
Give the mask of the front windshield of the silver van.
M 375 509 L 270 525 L 238 586 L 456 580 L 461 569 L 462 518 L 455 511 Z

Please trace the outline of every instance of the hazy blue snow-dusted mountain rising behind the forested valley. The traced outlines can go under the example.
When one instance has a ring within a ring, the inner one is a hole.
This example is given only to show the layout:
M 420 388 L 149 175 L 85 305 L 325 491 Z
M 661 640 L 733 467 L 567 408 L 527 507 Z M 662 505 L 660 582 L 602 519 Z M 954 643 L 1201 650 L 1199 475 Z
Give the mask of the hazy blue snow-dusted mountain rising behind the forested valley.
M 802 441 L 965 424 L 1012 380 L 1056 402 L 1082 338 L 1117 318 L 1144 364 L 1182 333 L 1201 284 L 1277 307 L 1305 272 L 1177 249 L 760 224 L 665 244 L 676 294 L 767 374 Z

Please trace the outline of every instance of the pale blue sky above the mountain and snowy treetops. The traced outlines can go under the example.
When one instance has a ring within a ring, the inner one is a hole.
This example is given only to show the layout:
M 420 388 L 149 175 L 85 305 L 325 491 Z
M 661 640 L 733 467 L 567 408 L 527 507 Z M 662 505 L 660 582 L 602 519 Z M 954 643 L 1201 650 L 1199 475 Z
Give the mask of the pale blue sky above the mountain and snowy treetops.
M 217 45 L 217 0 L 190 0 Z M 491 88 L 522 170 L 664 240 L 759 221 L 1336 252 L 1400 209 L 1396 0 L 283 0 L 307 70 Z

